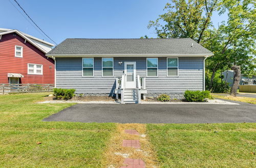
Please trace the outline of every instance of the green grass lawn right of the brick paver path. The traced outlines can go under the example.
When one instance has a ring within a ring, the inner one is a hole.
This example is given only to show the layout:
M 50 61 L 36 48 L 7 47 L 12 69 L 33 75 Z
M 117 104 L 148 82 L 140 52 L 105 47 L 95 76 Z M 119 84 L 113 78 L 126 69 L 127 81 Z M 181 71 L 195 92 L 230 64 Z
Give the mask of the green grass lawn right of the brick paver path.
M 161 167 L 255 167 L 256 124 L 148 124 Z

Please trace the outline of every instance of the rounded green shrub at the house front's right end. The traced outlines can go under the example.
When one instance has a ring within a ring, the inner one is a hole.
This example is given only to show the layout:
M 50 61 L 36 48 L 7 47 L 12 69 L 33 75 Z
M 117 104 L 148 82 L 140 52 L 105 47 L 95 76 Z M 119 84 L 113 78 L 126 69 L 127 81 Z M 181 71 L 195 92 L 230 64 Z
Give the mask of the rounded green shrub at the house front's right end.
M 189 102 L 203 102 L 205 99 L 212 99 L 209 91 L 188 91 L 184 93 L 186 101 Z

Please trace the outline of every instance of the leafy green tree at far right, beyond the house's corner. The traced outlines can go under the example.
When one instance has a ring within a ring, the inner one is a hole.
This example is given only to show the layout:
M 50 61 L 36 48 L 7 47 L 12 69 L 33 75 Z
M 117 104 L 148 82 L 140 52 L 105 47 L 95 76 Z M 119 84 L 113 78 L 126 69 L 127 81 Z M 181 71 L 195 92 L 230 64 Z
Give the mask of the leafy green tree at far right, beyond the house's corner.
M 240 65 L 242 73 L 254 70 L 252 65 L 256 32 L 254 5 L 255 2 L 250 0 L 224 0 L 220 3 L 220 14 L 228 11 L 228 20 L 223 22 L 218 30 L 211 32 L 208 41 L 203 44 L 215 53 L 206 64 L 206 68 L 212 71 L 211 84 L 216 71 L 223 67 Z

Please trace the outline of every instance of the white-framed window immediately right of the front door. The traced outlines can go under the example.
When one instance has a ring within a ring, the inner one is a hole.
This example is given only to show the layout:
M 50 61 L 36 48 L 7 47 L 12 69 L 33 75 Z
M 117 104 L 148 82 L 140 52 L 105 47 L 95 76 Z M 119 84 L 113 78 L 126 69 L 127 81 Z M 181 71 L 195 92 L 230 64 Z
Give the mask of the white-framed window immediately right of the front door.
M 158 76 L 158 58 L 146 59 L 146 76 Z

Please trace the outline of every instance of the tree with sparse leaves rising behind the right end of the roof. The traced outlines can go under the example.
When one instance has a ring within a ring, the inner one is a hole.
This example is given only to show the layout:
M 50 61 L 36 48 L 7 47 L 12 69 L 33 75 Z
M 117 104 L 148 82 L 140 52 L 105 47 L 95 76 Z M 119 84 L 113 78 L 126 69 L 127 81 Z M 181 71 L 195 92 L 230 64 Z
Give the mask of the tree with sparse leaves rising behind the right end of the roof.
M 159 38 L 191 38 L 198 43 L 204 39 L 205 31 L 211 25 L 212 12 L 217 10 L 219 0 L 173 0 L 167 3 L 167 12 L 156 21 L 150 21 L 148 28 L 155 27 Z M 159 21 L 166 24 L 161 25 Z

